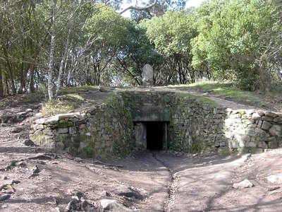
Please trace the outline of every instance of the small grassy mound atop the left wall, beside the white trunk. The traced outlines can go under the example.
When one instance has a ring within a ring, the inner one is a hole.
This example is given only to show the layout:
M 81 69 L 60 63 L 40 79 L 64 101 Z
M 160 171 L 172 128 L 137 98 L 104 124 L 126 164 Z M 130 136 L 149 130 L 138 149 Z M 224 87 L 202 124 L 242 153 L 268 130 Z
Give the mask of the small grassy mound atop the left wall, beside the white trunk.
M 73 112 L 75 108 L 82 105 L 82 102 L 84 102 L 84 98 L 81 95 L 72 93 L 67 95 L 61 95 L 57 98 L 54 98 L 53 100 L 49 100 L 46 102 L 42 107 L 42 114 L 44 116 L 52 116 L 55 114 L 61 114 L 61 113 L 68 113 Z

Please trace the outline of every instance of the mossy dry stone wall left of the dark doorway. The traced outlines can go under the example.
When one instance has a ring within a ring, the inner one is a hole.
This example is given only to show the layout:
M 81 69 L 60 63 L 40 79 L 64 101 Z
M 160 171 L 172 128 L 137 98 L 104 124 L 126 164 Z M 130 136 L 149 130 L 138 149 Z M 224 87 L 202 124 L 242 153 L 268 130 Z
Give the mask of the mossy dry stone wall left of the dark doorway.
M 133 148 L 133 122 L 120 95 L 85 112 L 37 119 L 30 139 L 54 151 L 82 157 L 123 157 Z

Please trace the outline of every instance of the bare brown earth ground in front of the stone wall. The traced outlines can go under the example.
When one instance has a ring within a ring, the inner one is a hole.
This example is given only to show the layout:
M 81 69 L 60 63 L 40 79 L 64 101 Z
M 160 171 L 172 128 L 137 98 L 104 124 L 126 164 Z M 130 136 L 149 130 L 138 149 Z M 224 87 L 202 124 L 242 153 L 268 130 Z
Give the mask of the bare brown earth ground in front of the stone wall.
M 238 106 L 231 103 L 231 107 Z M 222 104 L 228 102 L 224 100 Z M 65 153 L 42 158 L 49 160 L 32 159 L 47 153 L 23 144 L 39 111 L 37 105 L 1 108 L 1 113 L 26 112 L 30 108 L 32 111 L 23 120 L 0 127 L 0 187 L 12 184 L 14 189 L 9 199 L 0 201 L 0 211 L 66 211 L 74 190 L 82 192 L 95 211 L 100 210 L 101 199 L 116 199 L 133 211 L 281 211 L 282 185 L 271 184 L 266 177 L 282 172 L 282 150 L 248 159 L 245 155 L 149 151 L 102 163 Z M 2 169 L 12 160 L 18 163 Z M 38 173 L 31 176 L 35 167 Z M 233 189 L 233 182 L 243 179 L 249 179 L 255 187 Z M 118 195 L 118 188 L 123 185 L 139 191 L 142 198 Z M 2 189 L 0 196 L 4 192 L 7 191 Z

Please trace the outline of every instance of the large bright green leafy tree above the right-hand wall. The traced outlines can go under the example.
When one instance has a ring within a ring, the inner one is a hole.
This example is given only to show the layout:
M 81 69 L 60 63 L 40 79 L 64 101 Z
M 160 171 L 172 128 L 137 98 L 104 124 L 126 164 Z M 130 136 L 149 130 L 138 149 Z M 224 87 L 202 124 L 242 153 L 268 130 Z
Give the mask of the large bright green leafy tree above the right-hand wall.
M 220 73 L 219 78 L 235 76 L 244 90 L 257 90 L 264 74 L 260 62 L 278 35 L 280 23 L 271 1 L 213 0 L 197 10 L 199 35 L 192 40 L 192 65 Z M 276 36 L 274 36 L 276 37 Z M 215 74 L 214 74 L 215 75 Z

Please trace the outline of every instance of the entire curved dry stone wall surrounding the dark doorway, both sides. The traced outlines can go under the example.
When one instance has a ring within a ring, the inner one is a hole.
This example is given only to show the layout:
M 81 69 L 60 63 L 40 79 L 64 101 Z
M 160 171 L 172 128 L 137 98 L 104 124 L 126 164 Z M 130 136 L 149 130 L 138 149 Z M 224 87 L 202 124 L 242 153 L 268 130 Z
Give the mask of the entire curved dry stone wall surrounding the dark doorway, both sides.
M 231 110 L 173 92 L 123 91 L 85 112 L 37 119 L 30 139 L 55 151 L 104 158 L 135 147 L 133 122 L 168 122 L 168 148 L 190 153 L 282 147 L 282 113 Z

